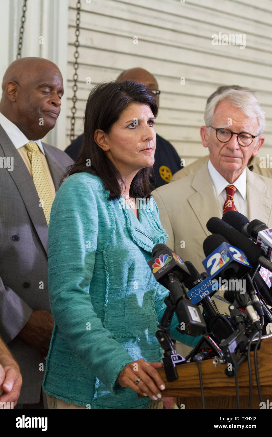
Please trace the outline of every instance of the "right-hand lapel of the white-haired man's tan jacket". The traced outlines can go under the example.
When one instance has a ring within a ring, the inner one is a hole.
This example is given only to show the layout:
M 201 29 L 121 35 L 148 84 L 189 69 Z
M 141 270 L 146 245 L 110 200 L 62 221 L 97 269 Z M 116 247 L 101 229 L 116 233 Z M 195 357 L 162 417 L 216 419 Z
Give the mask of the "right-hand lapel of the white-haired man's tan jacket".
M 272 219 L 272 198 L 267 195 L 267 187 L 263 180 L 248 168 L 247 172 L 247 204 L 248 219 L 258 218 L 268 226 L 271 226 Z

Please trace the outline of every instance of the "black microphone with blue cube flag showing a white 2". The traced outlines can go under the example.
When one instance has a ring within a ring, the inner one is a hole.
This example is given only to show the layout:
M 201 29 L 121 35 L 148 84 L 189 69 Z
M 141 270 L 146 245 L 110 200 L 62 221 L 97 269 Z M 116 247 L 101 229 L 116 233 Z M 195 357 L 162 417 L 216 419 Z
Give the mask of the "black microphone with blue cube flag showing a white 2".
M 211 266 L 210 271 L 213 277 L 218 277 L 219 273 L 223 273 L 227 279 L 228 290 L 232 289 L 234 283 L 233 291 L 235 293 L 235 300 L 238 304 L 236 306 L 245 309 L 251 322 L 257 322 L 260 318 L 256 315 L 244 286 L 241 291 L 241 277 L 243 277 L 251 267 L 244 254 L 236 247 L 227 243 L 225 239 L 218 234 L 210 235 L 204 240 L 203 251 L 206 256 L 206 260 L 203 261 L 206 270 L 208 271 Z M 212 264 L 213 260 L 214 263 Z M 243 264 L 245 264 L 245 267 L 242 266 Z M 237 283 L 239 284 L 238 287 Z

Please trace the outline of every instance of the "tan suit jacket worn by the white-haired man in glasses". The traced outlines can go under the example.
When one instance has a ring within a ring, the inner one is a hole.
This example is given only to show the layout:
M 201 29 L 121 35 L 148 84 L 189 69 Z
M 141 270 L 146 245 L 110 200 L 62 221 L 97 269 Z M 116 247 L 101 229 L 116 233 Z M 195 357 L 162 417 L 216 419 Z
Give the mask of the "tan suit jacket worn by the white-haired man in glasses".
M 246 172 L 249 221 L 258 218 L 271 228 L 272 179 L 252 173 L 248 168 Z M 210 217 L 222 218 L 207 163 L 196 173 L 159 187 L 152 195 L 162 226 L 169 235 L 166 244 L 182 260 L 191 261 L 200 273 L 203 272 L 202 244 L 210 235 L 207 221 Z

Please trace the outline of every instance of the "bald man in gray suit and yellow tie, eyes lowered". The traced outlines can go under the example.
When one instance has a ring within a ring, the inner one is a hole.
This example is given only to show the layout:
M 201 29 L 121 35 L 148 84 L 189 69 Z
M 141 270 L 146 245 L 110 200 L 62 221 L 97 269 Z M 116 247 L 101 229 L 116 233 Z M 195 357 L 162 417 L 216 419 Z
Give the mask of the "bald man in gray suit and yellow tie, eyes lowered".
M 46 210 L 33 175 L 41 171 L 38 182 L 41 188 L 47 184 L 52 202 L 65 168 L 73 163 L 66 153 L 40 140 L 58 118 L 62 75 L 47 59 L 22 58 L 8 67 L 2 89 L 0 336 L 21 369 L 23 385 L 17 407 L 43 408 L 41 383 L 54 327 L 47 273 L 51 203 Z M 28 144 L 36 149 L 32 155 Z M 34 153 L 39 163 L 35 168 Z

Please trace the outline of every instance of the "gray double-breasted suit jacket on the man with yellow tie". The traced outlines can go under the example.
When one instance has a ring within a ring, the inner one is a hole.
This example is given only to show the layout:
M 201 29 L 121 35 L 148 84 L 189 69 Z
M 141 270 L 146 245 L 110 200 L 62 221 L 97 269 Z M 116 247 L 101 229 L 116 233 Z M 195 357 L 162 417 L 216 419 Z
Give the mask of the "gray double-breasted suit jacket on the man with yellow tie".
M 56 191 L 71 158 L 42 143 Z M 18 403 L 40 400 L 45 361 L 17 337 L 33 310 L 50 312 L 48 225 L 32 177 L 0 125 L 0 156 L 14 158 L 14 169 L 0 168 L 0 336 L 17 360 L 23 385 Z

